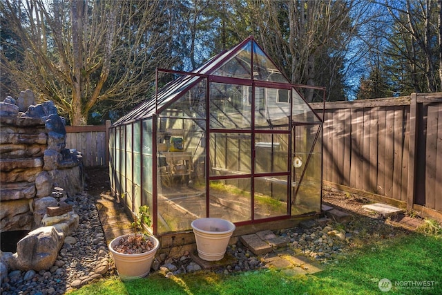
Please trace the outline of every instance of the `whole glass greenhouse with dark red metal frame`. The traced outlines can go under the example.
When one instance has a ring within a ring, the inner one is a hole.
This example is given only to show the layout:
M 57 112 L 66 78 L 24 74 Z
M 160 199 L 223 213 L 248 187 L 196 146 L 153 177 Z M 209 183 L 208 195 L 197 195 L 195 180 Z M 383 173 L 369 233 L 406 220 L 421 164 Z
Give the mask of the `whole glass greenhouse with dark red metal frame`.
M 157 236 L 319 213 L 323 120 L 300 88 L 253 37 L 191 73 L 157 69 L 154 97 L 111 127 L 114 193 L 147 205 Z

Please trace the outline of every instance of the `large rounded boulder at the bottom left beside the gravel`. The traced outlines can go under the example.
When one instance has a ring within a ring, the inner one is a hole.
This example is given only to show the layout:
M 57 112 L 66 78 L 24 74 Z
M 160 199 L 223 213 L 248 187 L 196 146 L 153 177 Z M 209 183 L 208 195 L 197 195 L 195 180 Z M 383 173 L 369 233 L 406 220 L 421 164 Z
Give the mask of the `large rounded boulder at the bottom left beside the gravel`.
M 17 242 L 17 253 L 9 261 L 11 269 L 39 272 L 54 265 L 64 242 L 64 234 L 55 227 L 39 227 Z

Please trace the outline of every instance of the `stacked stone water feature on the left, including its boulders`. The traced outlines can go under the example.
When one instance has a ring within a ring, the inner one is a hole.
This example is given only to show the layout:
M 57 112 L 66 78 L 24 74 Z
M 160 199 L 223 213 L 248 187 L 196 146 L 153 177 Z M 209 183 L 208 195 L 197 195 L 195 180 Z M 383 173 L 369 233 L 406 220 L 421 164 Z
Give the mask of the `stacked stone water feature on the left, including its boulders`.
M 84 189 L 81 153 L 66 149 L 65 121 L 53 102 L 36 105 L 29 90 L 0 102 L 0 168 L 0 231 L 31 231 L 17 253 L 1 253 L 0 267 L 48 269 L 79 220 L 72 207 L 48 215 L 59 207 L 52 191 Z

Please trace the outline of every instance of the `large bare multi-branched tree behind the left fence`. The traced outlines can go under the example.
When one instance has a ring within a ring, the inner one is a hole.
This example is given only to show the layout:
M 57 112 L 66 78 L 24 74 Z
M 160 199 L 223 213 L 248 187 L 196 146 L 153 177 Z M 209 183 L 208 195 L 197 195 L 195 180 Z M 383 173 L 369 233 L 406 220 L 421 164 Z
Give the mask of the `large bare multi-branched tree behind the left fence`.
M 70 124 L 87 124 L 99 102 L 107 99 L 106 107 L 115 109 L 145 99 L 155 67 L 174 61 L 164 46 L 175 34 L 166 33 L 163 17 L 171 5 L 162 0 L 70 0 L 50 6 L 44 0 L 2 1 L 0 12 L 26 59 L 17 68 L 2 55 L 2 66 L 19 84 L 53 100 Z

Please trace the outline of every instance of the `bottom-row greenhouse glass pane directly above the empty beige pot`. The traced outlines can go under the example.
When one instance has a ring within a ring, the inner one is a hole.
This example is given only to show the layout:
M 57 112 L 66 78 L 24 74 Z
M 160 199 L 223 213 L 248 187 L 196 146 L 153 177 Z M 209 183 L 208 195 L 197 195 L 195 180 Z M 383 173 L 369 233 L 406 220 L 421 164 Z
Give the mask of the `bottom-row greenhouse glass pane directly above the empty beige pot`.
M 250 178 L 211 180 L 209 190 L 209 217 L 231 222 L 251 220 Z

